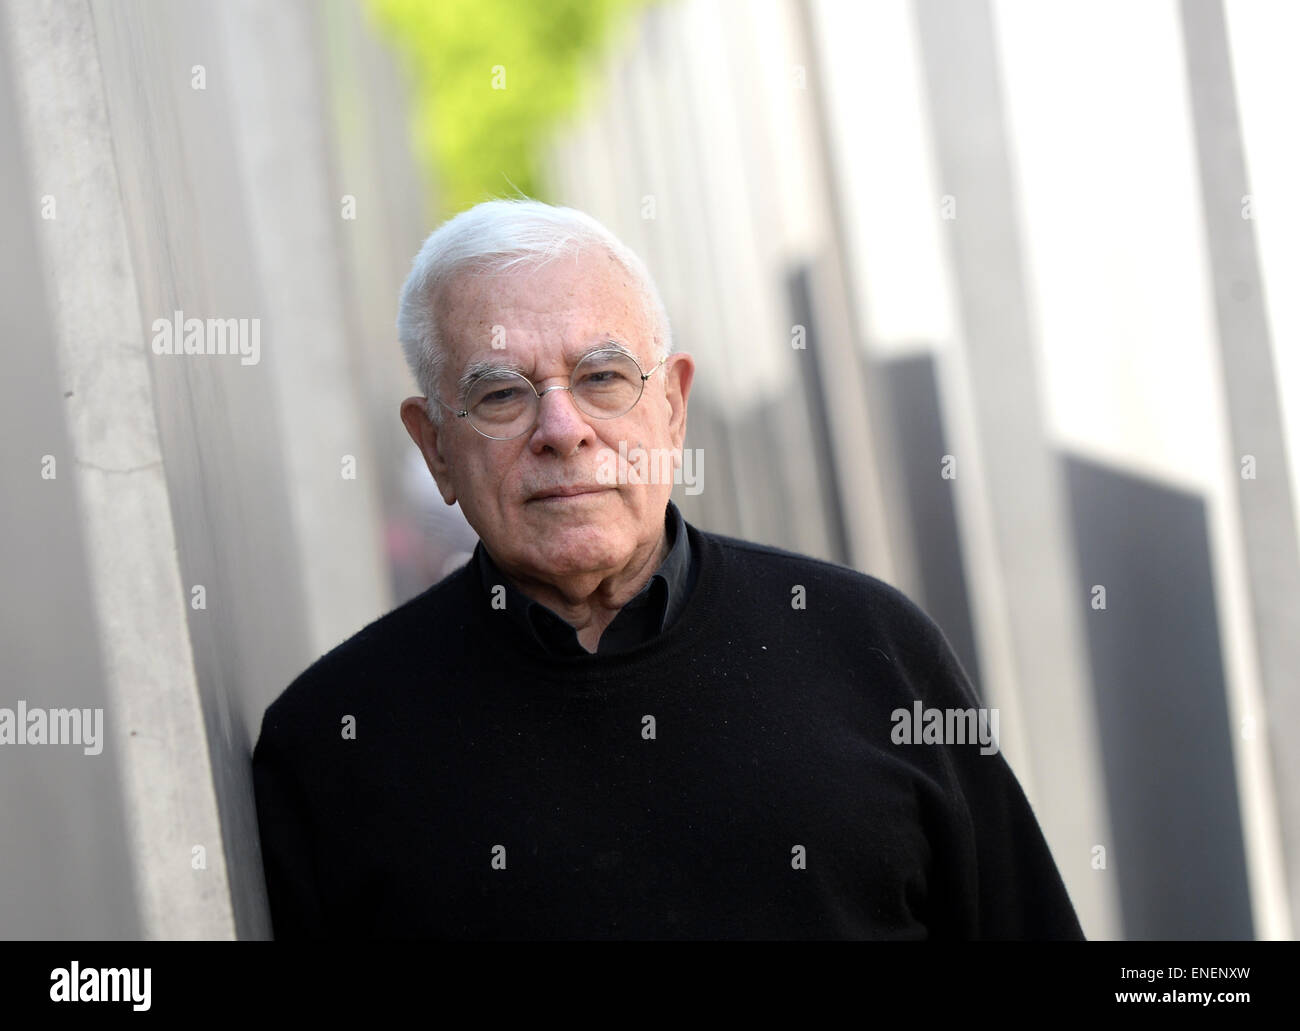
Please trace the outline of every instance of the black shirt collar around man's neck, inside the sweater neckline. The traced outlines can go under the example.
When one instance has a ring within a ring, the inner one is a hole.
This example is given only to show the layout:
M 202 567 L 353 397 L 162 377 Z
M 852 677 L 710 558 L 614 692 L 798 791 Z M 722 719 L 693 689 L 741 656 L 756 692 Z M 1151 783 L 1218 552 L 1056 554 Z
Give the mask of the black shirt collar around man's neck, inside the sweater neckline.
M 625 651 L 663 633 L 685 607 L 694 586 L 697 562 L 692 554 L 686 521 L 671 501 L 664 512 L 664 529 L 668 533 L 667 558 L 637 595 L 624 605 L 604 628 L 597 645 L 598 655 Z M 556 655 L 589 654 L 577 640 L 577 631 L 571 624 L 510 582 L 488 554 L 482 541 L 474 546 L 473 560 L 478 566 L 478 576 L 489 603 L 494 592 L 495 597 L 500 595 L 497 592 L 498 585 L 503 586 L 504 612 L 529 640 L 542 650 Z

